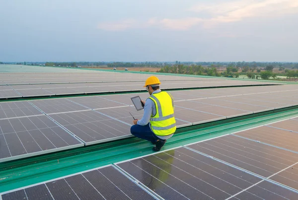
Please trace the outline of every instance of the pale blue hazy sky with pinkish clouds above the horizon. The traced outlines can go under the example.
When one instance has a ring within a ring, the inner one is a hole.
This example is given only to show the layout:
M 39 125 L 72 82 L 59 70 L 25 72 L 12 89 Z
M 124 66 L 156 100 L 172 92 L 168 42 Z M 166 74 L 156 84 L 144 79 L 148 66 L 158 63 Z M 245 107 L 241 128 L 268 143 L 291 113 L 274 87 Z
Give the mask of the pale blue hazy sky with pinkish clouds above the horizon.
M 298 62 L 298 0 L 0 0 L 0 62 Z

